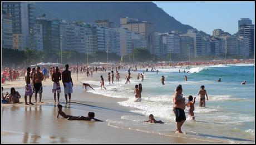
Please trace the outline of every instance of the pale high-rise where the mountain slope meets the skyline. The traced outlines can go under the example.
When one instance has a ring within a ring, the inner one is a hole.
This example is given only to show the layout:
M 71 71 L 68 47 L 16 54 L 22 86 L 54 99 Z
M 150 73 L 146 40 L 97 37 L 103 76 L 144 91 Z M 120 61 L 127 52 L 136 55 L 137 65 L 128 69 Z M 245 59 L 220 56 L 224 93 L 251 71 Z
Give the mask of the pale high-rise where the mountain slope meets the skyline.
M 196 29 L 188 29 L 186 33 L 189 37 L 194 38 L 194 57 L 203 56 L 202 37 Z

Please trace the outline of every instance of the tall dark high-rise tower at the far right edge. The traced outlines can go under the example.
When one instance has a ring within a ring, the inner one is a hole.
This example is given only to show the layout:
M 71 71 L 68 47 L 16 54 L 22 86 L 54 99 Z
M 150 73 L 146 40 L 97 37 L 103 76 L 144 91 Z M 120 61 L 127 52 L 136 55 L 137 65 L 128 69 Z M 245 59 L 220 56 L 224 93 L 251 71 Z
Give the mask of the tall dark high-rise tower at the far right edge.
M 249 53 L 250 57 L 254 57 L 254 24 L 243 24 L 239 26 L 239 36 L 244 36 L 249 39 Z

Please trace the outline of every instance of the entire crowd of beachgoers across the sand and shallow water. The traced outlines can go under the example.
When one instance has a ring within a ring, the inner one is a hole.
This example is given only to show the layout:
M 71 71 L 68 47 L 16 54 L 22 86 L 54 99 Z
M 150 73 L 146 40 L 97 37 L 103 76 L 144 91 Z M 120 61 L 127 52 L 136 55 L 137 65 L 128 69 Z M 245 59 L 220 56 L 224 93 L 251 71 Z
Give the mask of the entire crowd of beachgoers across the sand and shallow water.
M 42 82 L 46 81 L 47 78 L 51 78 L 51 81 L 53 82 L 52 84 L 52 93 L 53 93 L 53 98 L 56 103 L 56 93 L 57 93 L 57 101 L 58 103 L 60 102 L 60 93 L 61 93 L 61 83 L 62 81 L 63 87 L 64 87 L 64 94 L 65 94 L 65 99 L 66 103 L 71 102 L 71 94 L 73 93 L 73 81 L 71 77 L 71 73 L 73 74 L 78 74 L 78 73 L 85 73 L 87 77 L 91 76 L 93 72 L 106 72 L 107 70 L 110 71 L 107 73 L 107 79 L 109 81 L 109 84 L 114 84 L 114 77 L 116 77 L 116 82 L 120 81 L 120 73 L 118 72 L 120 69 L 128 69 L 128 74 L 125 77 L 126 83 L 130 82 L 131 77 L 131 71 L 136 72 L 137 67 L 140 67 L 140 69 L 145 69 L 146 72 L 149 71 L 149 68 L 151 68 L 151 72 L 155 72 L 158 74 L 159 71 L 156 69 L 157 67 L 159 68 L 166 68 L 166 67 L 182 67 L 182 66 L 188 66 L 189 65 L 216 65 L 216 64 L 235 64 L 235 63 L 252 63 L 252 60 L 246 60 L 246 61 L 214 61 L 214 62 L 194 62 L 194 63 L 189 63 L 189 62 L 177 62 L 177 63 L 137 63 L 135 65 L 129 65 L 127 63 L 122 63 L 122 64 L 105 64 L 102 66 L 83 66 L 83 65 L 71 65 L 69 66 L 68 64 L 65 65 L 65 68 L 60 67 L 43 67 L 41 71 L 41 67 L 37 66 L 36 68 L 30 68 L 27 67 L 27 69 L 23 69 L 21 67 L 18 67 L 16 71 L 14 71 L 13 68 L 8 68 L 4 67 L 2 71 L 2 83 L 4 83 L 5 80 L 8 81 L 17 81 L 17 79 L 20 78 L 25 78 L 26 86 L 25 86 L 25 93 L 24 93 L 24 99 L 25 99 L 25 104 L 26 105 L 34 105 L 32 103 L 32 95 L 35 94 L 35 103 L 37 103 L 37 94 L 39 94 L 39 103 L 42 102 L 42 92 L 43 92 L 43 86 Z M 115 74 L 114 74 L 115 71 Z M 144 73 L 138 73 L 137 74 L 137 80 L 141 79 L 141 82 L 144 80 Z M 180 70 L 179 70 L 180 73 Z M 185 73 L 185 70 L 184 70 Z M 189 71 L 187 72 L 189 73 Z M 100 76 L 101 79 L 101 84 L 100 87 L 102 89 L 105 88 L 104 84 L 104 78 L 103 76 Z M 185 81 L 188 81 L 188 77 L 185 76 Z M 3 81 L 4 80 L 4 81 Z M 165 77 L 161 76 L 161 83 L 164 85 L 165 83 Z M 221 78 L 219 78 L 218 82 L 221 82 Z M 243 81 L 241 84 L 245 84 L 246 81 Z M 83 87 L 85 87 L 85 90 L 87 90 L 86 87 L 90 87 L 93 89 L 90 84 L 88 83 L 83 83 Z M 95 89 L 93 89 L 95 90 Z M 185 97 L 183 97 L 183 89 L 182 86 L 179 85 L 175 89 L 175 93 L 173 95 L 173 112 L 175 114 L 175 121 L 176 121 L 176 133 L 183 133 L 181 132 L 181 126 L 183 126 L 186 117 L 185 117 L 185 112 L 184 109 L 185 107 L 188 107 L 188 115 L 192 120 L 195 120 L 194 116 L 194 104 L 195 104 L 195 99 L 196 97 L 193 98 L 193 96 L 188 96 L 188 102 L 186 102 Z M 140 102 L 141 101 L 141 93 L 142 93 L 142 84 L 136 84 L 135 89 L 134 89 L 134 96 L 135 96 L 135 102 Z M 29 96 L 29 102 L 27 102 L 27 96 Z M 205 107 L 205 96 L 208 101 L 208 94 L 206 93 L 205 87 L 201 86 L 200 90 L 198 92 L 198 96 L 200 96 L 199 99 L 199 107 Z M 11 88 L 10 93 L 6 92 L 5 94 L 3 93 L 3 87 L 2 87 L 2 103 L 19 103 L 19 98 L 21 98 L 21 95 L 19 92 L 15 90 L 15 88 Z M 186 102 L 186 103 L 185 103 Z M 100 121 L 99 119 L 95 119 L 95 113 L 89 112 L 87 117 L 84 116 L 69 116 L 66 115 L 64 112 L 62 112 L 62 106 L 61 104 L 58 104 L 58 116 L 62 116 L 63 118 L 66 118 L 68 120 L 86 120 L 86 121 L 91 121 L 91 119 L 95 121 Z M 162 121 L 156 121 L 154 119 L 153 114 L 150 114 L 149 120 L 145 122 L 150 122 L 150 123 L 164 123 Z

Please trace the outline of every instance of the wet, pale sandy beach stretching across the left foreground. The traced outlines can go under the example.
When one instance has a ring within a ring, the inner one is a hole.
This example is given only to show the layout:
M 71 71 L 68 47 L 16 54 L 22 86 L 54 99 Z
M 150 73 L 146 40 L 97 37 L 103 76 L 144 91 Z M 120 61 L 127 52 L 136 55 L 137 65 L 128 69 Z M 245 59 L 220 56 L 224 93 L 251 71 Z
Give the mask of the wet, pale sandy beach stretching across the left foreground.
M 107 71 L 108 72 L 108 71 Z M 140 131 L 133 128 L 119 128 L 111 126 L 109 119 L 120 119 L 122 116 L 142 116 L 130 112 L 136 108 L 120 106 L 117 102 L 126 99 L 105 97 L 86 92 L 82 88 L 82 81 L 99 81 L 100 75 L 107 82 L 107 72 L 93 73 L 93 77 L 85 74 L 72 74 L 74 83 L 71 103 L 65 103 L 63 85 L 61 83 L 60 101 L 63 112 L 72 116 L 87 116 L 88 112 L 95 112 L 95 118 L 104 122 L 68 121 L 65 118 L 56 118 L 57 103 L 54 103 L 51 93 L 52 82 L 47 79 L 43 82 L 43 103 L 34 106 L 24 105 L 24 80 L 6 82 L 4 91 L 15 87 L 22 98 L 21 103 L 2 104 L 1 107 L 1 136 L 2 143 L 228 143 L 219 139 L 207 137 L 190 137 L 189 134 L 175 134 L 171 131 L 166 134 Z M 135 77 L 136 73 L 133 73 Z M 120 73 L 124 78 L 125 72 Z M 133 78 L 135 79 L 135 78 Z M 92 86 L 93 87 L 93 86 Z M 32 97 L 32 102 L 35 102 Z M 143 116 L 145 120 L 147 116 Z M 152 124 L 156 125 L 156 124 Z M 157 124 L 158 125 L 158 124 Z

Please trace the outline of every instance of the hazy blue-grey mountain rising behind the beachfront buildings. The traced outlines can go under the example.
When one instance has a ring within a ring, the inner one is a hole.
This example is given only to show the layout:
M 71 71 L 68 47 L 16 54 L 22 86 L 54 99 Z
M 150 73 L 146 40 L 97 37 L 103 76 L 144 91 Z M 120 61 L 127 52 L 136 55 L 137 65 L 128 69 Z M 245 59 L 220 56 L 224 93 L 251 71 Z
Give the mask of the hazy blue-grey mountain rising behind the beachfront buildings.
M 36 16 L 43 13 L 49 18 L 93 23 L 97 19 L 109 19 L 120 26 L 120 18 L 139 18 L 154 23 L 159 32 L 180 31 L 186 33 L 193 27 L 182 24 L 152 2 L 35 2 Z

